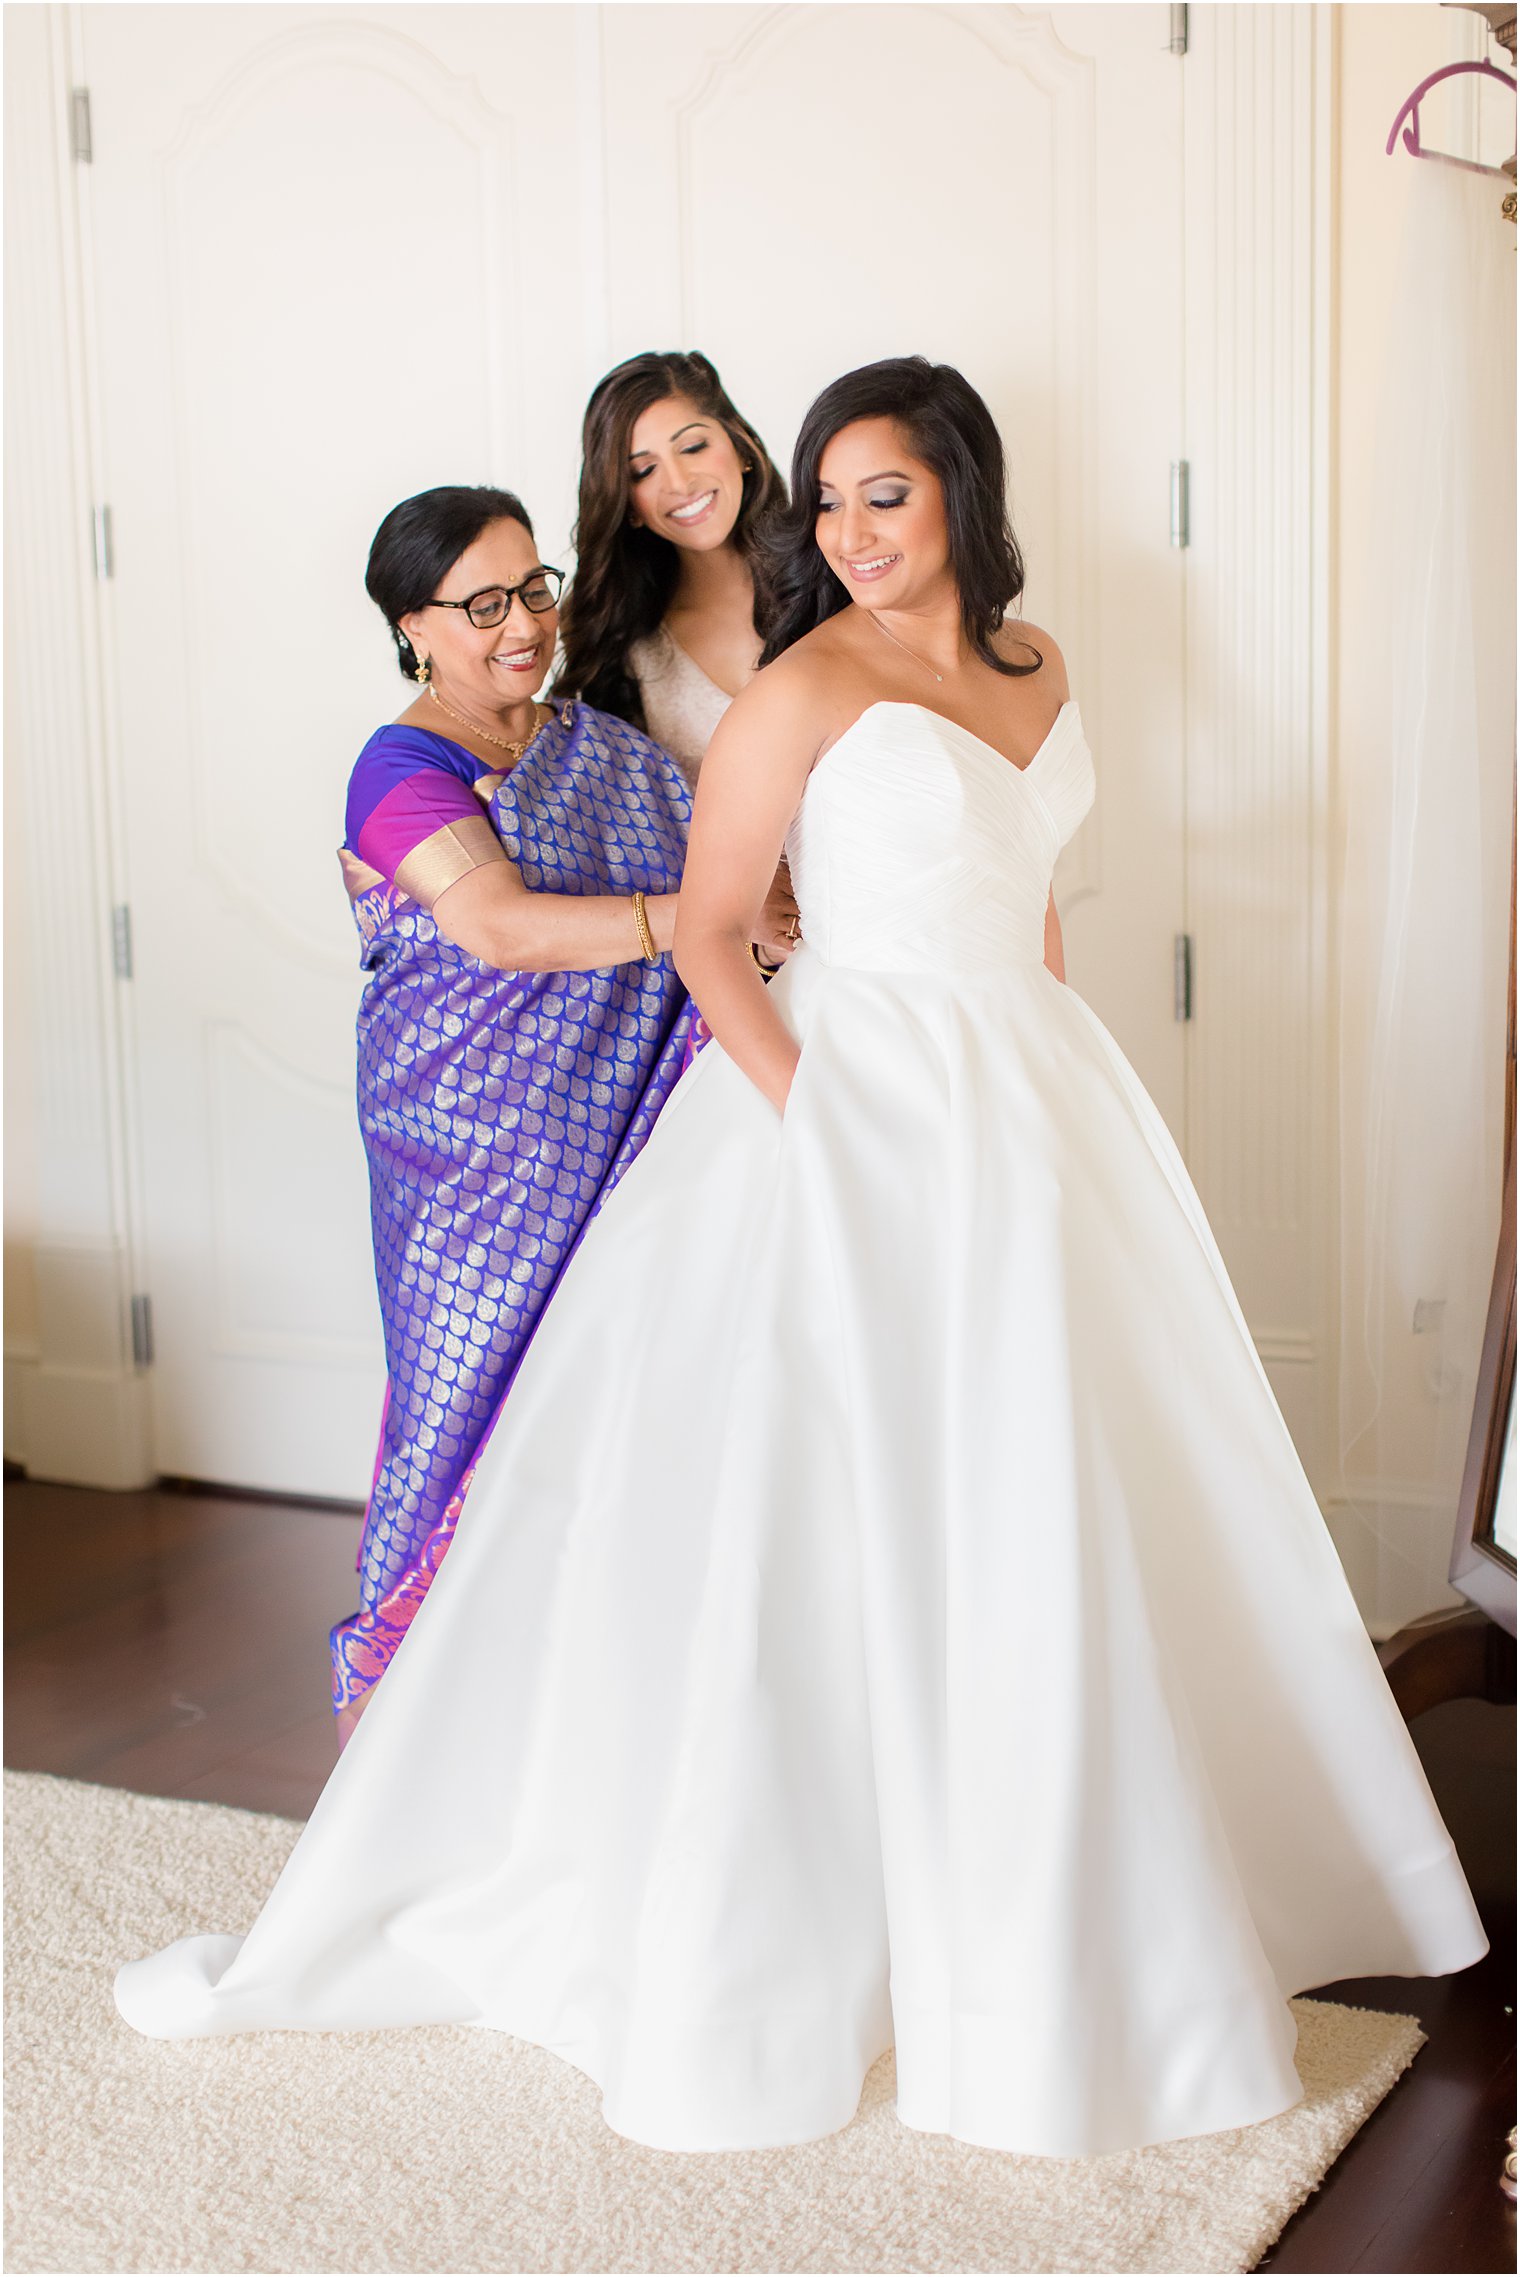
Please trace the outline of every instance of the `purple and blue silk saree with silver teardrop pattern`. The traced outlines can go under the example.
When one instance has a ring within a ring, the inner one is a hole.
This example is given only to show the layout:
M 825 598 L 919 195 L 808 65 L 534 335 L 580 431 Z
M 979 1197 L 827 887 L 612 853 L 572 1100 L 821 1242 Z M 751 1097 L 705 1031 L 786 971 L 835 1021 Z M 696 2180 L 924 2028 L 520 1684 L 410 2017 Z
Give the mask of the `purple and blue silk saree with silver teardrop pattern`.
M 360 1612 L 332 1630 L 334 1710 L 385 1674 L 421 1605 L 537 1318 L 694 1020 L 669 956 L 498 972 L 428 911 L 503 852 L 539 893 L 674 893 L 687 822 L 676 763 L 587 704 L 510 774 L 414 726 L 380 729 L 353 770 L 341 863 L 369 975 L 360 1127 L 387 1400 Z

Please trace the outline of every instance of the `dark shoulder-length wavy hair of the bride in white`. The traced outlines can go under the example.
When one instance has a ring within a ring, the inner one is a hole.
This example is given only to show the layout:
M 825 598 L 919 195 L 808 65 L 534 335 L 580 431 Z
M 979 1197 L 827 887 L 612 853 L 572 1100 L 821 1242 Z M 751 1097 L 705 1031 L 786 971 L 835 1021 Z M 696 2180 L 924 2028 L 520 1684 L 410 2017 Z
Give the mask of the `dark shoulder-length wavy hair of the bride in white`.
M 1024 556 L 1008 519 L 1008 467 L 992 412 L 953 364 L 890 355 L 833 380 L 810 405 L 792 453 L 792 503 L 776 519 L 758 581 L 760 665 L 849 608 L 849 594 L 819 553 L 819 460 L 856 419 L 894 419 L 915 458 L 940 478 L 949 558 L 960 592 L 960 624 L 983 663 L 1008 679 L 1038 672 L 1010 665 L 992 635 L 1024 592 Z

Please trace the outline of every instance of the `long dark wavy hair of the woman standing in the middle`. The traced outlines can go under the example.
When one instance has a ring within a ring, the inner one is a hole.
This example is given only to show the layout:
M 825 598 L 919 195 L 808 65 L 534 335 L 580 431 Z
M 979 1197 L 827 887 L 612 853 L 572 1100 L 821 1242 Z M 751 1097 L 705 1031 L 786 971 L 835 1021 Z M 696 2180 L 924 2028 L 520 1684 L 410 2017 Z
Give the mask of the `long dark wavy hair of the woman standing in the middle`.
M 751 567 L 787 499 L 769 451 L 705 355 L 630 355 L 596 383 L 580 430 L 576 574 L 560 603 L 564 663 L 555 694 L 583 697 L 633 726 L 644 726 L 644 704 L 628 649 L 660 626 L 680 556 L 669 540 L 628 521 L 628 444 L 635 421 L 667 396 L 687 396 L 703 419 L 728 433 L 740 460 L 749 460 L 733 537 Z

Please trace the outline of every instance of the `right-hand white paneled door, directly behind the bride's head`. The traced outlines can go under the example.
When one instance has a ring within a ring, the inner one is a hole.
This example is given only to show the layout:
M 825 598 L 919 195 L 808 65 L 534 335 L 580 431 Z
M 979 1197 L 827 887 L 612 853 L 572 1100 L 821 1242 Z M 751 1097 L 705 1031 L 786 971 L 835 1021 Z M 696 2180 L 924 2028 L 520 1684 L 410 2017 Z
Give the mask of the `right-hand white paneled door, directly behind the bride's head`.
M 1099 797 L 1067 968 L 1183 1136 L 1183 59 L 1170 9 L 610 7 L 612 355 L 701 342 L 767 437 L 878 355 L 960 364 Z

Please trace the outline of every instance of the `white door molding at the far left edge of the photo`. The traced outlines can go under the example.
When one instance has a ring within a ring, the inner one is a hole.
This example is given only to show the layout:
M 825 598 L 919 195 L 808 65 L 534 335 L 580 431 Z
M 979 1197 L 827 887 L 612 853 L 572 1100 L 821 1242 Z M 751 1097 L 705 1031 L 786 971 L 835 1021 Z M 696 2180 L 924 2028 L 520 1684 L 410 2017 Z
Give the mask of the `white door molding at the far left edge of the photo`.
M 25 838 L 25 961 L 36 1132 L 36 1348 L 7 1371 L 7 1453 L 36 1478 L 152 1478 L 132 1364 L 132 1161 L 121 984 L 111 968 L 114 799 L 91 521 L 102 503 L 89 403 L 77 84 L 59 7 L 5 18 L 7 820 Z M 11 931 L 14 918 L 7 920 Z M 14 938 L 14 934 L 11 934 Z

